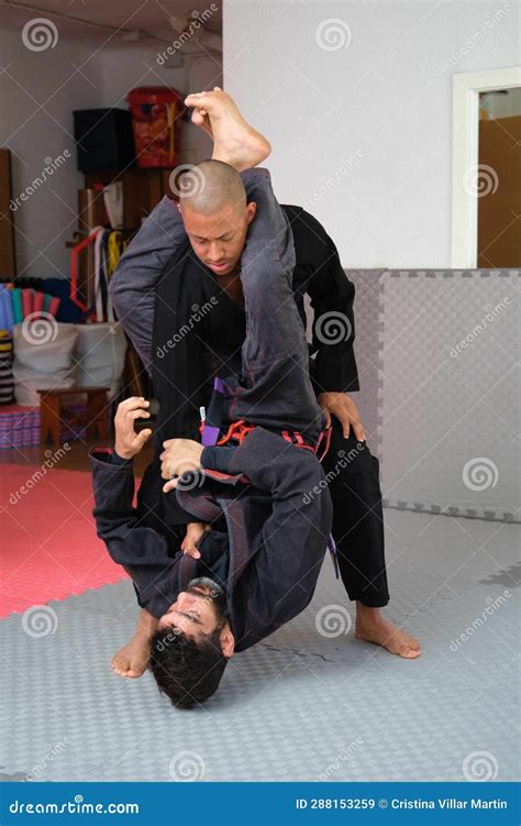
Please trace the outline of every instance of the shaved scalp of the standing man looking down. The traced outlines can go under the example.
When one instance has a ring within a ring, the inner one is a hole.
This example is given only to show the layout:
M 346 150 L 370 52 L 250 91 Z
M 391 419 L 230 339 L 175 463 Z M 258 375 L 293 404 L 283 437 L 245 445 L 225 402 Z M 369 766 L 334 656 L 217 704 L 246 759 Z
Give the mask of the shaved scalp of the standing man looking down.
M 213 216 L 224 208 L 246 208 L 246 190 L 240 174 L 223 161 L 202 161 L 179 180 L 181 208 Z

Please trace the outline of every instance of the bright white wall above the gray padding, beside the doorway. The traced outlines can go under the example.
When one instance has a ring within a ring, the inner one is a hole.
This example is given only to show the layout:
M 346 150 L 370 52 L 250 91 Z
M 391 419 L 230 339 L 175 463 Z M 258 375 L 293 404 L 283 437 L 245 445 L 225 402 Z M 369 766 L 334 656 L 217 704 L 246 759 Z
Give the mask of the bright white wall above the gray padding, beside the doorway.
M 325 225 L 345 267 L 451 266 L 452 75 L 519 64 L 520 7 L 224 0 L 223 13 L 224 88 L 273 144 L 279 200 Z

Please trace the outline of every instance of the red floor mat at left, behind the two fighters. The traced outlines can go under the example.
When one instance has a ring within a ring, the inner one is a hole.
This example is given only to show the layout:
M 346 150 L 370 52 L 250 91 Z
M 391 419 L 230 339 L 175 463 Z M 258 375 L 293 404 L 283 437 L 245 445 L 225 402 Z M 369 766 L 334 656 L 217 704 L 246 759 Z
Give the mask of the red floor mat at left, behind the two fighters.
M 96 536 L 90 473 L 3 464 L 0 475 L 0 617 L 128 579 Z

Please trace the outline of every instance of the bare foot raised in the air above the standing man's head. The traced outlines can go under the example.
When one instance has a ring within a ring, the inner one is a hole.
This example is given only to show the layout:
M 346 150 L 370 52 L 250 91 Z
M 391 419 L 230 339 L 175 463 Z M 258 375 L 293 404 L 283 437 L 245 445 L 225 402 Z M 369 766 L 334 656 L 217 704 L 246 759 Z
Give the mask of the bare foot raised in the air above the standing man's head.
M 214 141 L 214 161 L 223 161 L 243 172 L 260 164 L 271 152 L 269 142 L 246 123 L 233 98 L 218 86 L 213 91 L 189 95 L 185 106 L 196 108 L 192 122 L 201 128 L 208 125 L 204 120 L 208 117 Z

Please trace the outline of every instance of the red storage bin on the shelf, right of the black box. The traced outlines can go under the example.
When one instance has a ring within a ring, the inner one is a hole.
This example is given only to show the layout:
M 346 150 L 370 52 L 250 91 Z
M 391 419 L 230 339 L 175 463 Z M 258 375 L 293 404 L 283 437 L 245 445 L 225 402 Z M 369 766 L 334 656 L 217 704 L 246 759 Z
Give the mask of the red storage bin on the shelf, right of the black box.
M 166 86 L 141 86 L 126 96 L 138 166 L 179 165 L 182 98 Z

